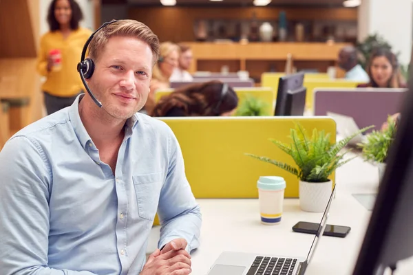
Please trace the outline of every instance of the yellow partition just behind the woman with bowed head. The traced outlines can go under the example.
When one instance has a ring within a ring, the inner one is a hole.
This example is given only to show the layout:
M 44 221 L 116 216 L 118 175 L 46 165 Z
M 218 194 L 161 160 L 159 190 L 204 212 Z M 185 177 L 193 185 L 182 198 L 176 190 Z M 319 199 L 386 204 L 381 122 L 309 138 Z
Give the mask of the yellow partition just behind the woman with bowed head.
M 275 96 L 273 89 L 268 87 L 235 87 L 235 94 L 239 98 L 238 106 L 242 104 L 248 96 L 253 96 L 254 98 L 260 99 L 266 102 L 266 110 L 264 113 L 266 115 L 274 115 L 275 111 Z M 155 92 L 155 102 L 158 102 L 162 96 L 167 96 L 173 92 L 173 89 L 161 89 Z

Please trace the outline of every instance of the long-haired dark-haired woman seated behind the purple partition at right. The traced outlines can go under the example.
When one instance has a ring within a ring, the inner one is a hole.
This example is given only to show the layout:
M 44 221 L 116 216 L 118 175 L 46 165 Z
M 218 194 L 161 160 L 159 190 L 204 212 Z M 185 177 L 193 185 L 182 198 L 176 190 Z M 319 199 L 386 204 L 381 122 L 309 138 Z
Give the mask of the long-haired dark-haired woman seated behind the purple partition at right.
M 385 48 L 378 48 L 372 52 L 367 67 L 370 83 L 357 87 L 374 88 L 404 88 L 406 87 L 401 76 L 399 62 L 396 56 Z

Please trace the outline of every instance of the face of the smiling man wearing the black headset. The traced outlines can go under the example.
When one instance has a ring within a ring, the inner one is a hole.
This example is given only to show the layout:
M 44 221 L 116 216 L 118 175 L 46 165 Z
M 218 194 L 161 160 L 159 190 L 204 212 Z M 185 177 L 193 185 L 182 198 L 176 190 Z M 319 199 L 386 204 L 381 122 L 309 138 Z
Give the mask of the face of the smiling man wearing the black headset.
M 100 52 L 89 86 L 113 118 L 126 120 L 142 109 L 152 76 L 151 47 L 134 37 L 115 36 Z

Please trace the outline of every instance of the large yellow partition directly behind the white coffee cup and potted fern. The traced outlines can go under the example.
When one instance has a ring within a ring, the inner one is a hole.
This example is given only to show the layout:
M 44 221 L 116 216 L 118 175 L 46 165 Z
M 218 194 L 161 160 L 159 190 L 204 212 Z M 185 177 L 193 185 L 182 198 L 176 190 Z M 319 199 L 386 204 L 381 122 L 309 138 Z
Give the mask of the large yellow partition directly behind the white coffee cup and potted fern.
M 285 197 L 298 197 L 299 180 L 281 168 L 244 153 L 264 155 L 293 166 L 293 159 L 269 138 L 291 142 L 294 122 L 311 135 L 313 129 L 330 133 L 336 124 L 327 117 L 159 118 L 178 138 L 189 184 L 197 198 L 257 198 L 257 179 L 277 175 L 286 179 Z M 189 131 L 189 129 L 191 129 Z M 331 176 L 334 180 L 334 174 Z

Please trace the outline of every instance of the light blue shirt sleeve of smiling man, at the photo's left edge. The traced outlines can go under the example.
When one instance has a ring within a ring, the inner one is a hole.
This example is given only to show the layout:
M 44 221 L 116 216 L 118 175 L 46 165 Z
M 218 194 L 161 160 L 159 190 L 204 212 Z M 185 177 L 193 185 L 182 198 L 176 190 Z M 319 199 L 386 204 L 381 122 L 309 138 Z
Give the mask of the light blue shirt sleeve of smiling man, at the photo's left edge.
M 0 152 L 0 274 L 92 275 L 47 266 L 51 173 L 39 144 L 13 137 Z

